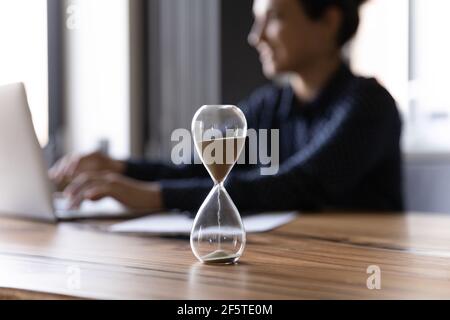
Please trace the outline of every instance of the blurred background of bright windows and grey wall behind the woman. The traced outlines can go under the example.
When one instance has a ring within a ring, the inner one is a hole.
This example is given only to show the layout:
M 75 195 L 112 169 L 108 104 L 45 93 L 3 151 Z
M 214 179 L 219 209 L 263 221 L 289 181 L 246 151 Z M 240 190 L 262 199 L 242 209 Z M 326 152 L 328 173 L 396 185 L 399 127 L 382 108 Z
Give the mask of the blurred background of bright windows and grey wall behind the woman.
M 0 84 L 21 81 L 50 162 L 67 152 L 170 158 L 204 104 L 264 84 L 251 0 L 0 0 Z M 450 1 L 369 0 L 346 48 L 404 121 L 407 209 L 450 213 Z

